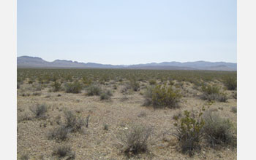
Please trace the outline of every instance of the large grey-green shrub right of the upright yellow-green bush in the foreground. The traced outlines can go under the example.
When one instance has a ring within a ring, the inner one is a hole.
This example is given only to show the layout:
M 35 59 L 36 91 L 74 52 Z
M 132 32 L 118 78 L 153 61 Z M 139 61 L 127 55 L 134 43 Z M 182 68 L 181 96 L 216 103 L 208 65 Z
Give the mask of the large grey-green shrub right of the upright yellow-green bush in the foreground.
M 205 125 L 203 132 L 207 142 L 212 146 L 236 145 L 236 137 L 233 133 L 233 124 L 228 119 L 223 119 L 216 112 L 206 112 L 203 116 Z

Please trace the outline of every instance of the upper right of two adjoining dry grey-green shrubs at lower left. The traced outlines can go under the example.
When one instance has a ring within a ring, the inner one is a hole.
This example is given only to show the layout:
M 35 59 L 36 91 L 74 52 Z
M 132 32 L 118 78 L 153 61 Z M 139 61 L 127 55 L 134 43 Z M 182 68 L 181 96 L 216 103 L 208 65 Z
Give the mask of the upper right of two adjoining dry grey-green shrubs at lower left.
M 75 116 L 72 111 L 64 112 L 65 127 L 71 132 L 77 132 L 85 125 L 84 119 Z

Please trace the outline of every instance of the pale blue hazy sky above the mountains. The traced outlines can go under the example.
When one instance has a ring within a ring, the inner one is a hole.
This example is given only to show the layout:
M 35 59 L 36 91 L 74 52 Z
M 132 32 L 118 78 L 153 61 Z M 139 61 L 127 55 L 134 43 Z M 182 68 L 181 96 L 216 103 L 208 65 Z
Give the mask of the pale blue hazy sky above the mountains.
M 17 56 L 236 63 L 236 0 L 17 1 Z

